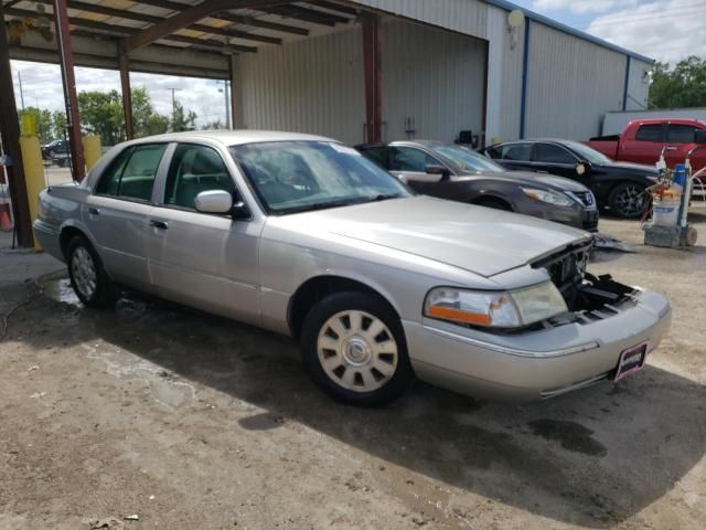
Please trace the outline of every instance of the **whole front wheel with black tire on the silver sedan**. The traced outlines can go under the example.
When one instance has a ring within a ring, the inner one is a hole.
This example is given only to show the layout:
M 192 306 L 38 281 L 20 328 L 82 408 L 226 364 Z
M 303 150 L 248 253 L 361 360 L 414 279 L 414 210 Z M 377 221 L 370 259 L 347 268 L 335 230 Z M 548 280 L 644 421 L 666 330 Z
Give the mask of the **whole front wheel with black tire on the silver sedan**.
M 414 379 L 399 317 L 387 303 L 363 293 L 320 300 L 304 318 L 301 354 L 311 379 L 351 405 L 386 405 Z

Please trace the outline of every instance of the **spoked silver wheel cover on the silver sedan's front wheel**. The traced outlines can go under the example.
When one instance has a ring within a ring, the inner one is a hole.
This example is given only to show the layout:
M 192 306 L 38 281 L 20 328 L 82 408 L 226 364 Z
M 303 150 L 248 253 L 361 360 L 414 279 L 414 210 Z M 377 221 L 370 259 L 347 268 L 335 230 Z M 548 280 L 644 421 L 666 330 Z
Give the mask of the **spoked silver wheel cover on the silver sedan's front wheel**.
M 372 392 L 389 382 L 398 362 L 397 342 L 377 317 L 359 310 L 329 318 L 317 341 L 319 362 L 335 384 Z

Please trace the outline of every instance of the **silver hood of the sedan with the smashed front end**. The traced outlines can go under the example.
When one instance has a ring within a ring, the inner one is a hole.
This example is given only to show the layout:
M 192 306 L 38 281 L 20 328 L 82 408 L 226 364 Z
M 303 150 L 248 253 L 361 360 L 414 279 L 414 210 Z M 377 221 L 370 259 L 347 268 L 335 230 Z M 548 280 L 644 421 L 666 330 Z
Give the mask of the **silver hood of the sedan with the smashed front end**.
M 430 197 L 291 214 L 279 221 L 298 232 L 372 243 L 484 277 L 590 239 L 561 224 Z

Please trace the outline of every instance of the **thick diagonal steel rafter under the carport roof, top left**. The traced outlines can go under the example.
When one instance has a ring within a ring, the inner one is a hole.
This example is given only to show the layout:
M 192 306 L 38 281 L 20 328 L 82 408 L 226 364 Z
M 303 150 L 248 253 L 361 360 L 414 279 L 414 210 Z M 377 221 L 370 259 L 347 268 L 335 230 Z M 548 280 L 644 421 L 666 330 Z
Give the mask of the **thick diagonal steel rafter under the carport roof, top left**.
M 199 20 L 205 19 L 216 11 L 243 8 L 259 9 L 279 3 L 287 2 L 282 2 L 282 0 L 205 0 L 192 8 L 184 9 L 168 19 L 163 19 L 161 22 L 140 31 L 135 35 L 128 36 L 125 40 L 125 50 L 126 52 L 130 52 L 138 47 L 147 46 L 148 44 L 160 39 L 164 39 L 167 35 L 182 30 Z

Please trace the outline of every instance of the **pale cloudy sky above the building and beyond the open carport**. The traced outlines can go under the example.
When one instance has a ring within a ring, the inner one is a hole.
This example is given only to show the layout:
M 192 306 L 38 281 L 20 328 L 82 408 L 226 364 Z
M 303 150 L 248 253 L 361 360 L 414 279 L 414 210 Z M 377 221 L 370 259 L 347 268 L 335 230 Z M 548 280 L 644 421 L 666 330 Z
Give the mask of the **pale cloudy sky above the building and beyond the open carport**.
M 431 0 L 427 0 L 431 1 Z M 514 0 L 514 3 L 558 22 L 586 31 L 657 61 L 675 63 L 688 55 L 706 59 L 706 0 Z M 63 109 L 57 65 L 12 62 L 15 97 L 21 105 L 19 75 L 25 106 Z M 146 87 L 158 112 L 172 108 L 176 99 L 199 115 L 197 125 L 225 121 L 223 82 L 131 74 L 133 87 Z M 120 89 L 117 72 L 76 68 L 78 91 Z

